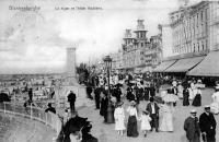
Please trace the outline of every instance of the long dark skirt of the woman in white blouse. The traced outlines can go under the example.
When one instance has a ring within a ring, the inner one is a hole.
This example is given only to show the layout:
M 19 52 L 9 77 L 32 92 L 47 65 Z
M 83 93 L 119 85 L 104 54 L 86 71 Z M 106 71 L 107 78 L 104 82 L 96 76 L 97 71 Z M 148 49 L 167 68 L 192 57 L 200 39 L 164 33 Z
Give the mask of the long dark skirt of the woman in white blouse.
M 136 116 L 129 116 L 128 118 L 127 137 L 138 137 Z

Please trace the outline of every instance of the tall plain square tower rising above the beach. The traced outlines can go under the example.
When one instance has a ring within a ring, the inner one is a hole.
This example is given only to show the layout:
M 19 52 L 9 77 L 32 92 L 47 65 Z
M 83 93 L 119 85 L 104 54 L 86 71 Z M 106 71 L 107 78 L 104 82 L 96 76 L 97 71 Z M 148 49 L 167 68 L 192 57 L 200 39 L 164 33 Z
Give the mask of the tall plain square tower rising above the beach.
M 76 48 L 67 48 L 67 64 L 66 72 L 68 78 L 76 78 Z

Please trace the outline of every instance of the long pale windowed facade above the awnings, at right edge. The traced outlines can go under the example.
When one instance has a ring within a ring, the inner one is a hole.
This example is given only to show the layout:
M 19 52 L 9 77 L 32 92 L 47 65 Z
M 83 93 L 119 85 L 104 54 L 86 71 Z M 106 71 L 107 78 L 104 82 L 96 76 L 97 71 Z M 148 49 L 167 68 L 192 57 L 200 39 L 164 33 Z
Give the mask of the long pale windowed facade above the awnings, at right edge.
M 218 49 L 219 3 L 201 1 L 170 13 L 174 56 Z

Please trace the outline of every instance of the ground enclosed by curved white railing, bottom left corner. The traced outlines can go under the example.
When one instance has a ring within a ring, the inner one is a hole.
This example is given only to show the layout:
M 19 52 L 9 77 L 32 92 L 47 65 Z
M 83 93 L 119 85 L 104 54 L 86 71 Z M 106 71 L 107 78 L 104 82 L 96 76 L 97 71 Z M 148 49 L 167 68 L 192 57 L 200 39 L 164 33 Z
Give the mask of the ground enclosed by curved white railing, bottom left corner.
M 53 142 L 56 132 L 42 122 L 0 113 L 0 142 Z

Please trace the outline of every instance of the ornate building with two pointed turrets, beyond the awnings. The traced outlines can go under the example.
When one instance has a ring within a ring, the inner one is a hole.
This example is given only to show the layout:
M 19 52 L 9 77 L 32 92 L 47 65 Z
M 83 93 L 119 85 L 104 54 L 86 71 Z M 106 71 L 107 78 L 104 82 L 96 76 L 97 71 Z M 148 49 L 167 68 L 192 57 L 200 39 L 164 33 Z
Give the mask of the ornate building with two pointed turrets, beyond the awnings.
M 152 71 L 161 62 L 161 34 L 147 37 L 143 20 L 137 20 L 136 29 L 126 29 L 122 48 L 113 58 L 112 68 L 119 72 Z

